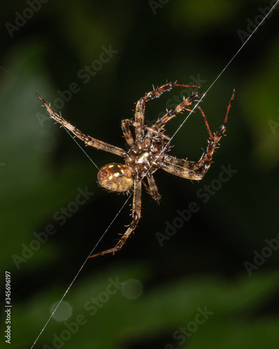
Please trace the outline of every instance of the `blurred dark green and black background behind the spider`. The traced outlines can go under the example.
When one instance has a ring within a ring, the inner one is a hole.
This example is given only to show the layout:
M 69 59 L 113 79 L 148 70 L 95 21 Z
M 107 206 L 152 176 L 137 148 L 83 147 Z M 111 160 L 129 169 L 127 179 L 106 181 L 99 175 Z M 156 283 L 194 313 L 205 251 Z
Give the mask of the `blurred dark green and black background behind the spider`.
M 121 119 L 133 117 L 153 84 L 193 79 L 201 91 L 215 82 L 202 101 L 213 131 L 236 89 L 211 169 L 195 183 L 156 172 L 160 205 L 143 193 L 135 235 L 114 256 L 86 262 L 34 348 L 278 348 L 278 10 L 216 80 L 272 5 L 13 1 L 1 9 L 0 265 L 1 284 L 5 270 L 12 280 L 11 348 L 31 347 L 126 200 L 98 186 L 98 170 L 47 118 L 36 92 L 84 133 L 124 147 Z M 84 83 L 78 72 L 110 46 L 113 57 Z M 70 96 L 73 83 L 78 91 Z M 60 104 L 59 91 L 66 99 Z M 187 93 L 177 87 L 148 103 L 146 121 L 175 105 L 181 91 Z M 167 135 L 186 116 L 169 122 Z M 207 138 L 196 111 L 172 140 L 171 154 L 197 161 Z M 98 168 L 119 161 L 85 150 Z M 221 182 L 229 167 L 232 177 Z M 206 202 L 198 195 L 204 186 L 212 192 Z M 86 188 L 94 194 L 75 209 Z M 131 202 L 96 252 L 125 231 Z M 177 219 L 190 202 L 199 210 L 187 222 Z M 63 207 L 73 211 L 65 221 Z M 46 235 L 49 225 L 53 235 Z M 162 246 L 158 233 L 169 232 Z M 123 285 L 110 286 L 112 280 Z M 92 297 L 96 313 L 84 309 Z M 199 316 L 201 310 L 210 314 Z M 4 307 L 1 318 L 4 324 Z M 0 341 L 8 346 L 5 329 Z

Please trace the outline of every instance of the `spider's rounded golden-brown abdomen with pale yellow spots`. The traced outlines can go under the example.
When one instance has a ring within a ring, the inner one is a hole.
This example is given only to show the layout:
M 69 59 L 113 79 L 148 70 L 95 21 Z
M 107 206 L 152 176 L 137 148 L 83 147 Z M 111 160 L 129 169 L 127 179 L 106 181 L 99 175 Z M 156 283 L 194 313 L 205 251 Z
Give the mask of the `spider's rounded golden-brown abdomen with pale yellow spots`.
M 98 172 L 100 186 L 108 191 L 128 191 L 134 184 L 130 168 L 121 163 L 109 163 Z

